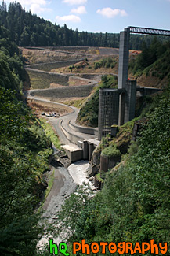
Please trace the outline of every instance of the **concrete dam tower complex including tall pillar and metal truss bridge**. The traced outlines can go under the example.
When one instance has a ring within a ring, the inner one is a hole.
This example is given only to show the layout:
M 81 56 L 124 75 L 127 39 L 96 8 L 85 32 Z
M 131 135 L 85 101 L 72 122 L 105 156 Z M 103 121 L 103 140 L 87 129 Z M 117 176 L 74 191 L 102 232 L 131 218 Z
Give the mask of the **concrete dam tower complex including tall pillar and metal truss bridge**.
M 99 90 L 98 139 L 111 132 L 111 126 L 123 125 L 135 117 L 136 91 L 150 95 L 157 88 L 137 87 L 136 80 L 128 80 L 130 33 L 170 36 L 170 31 L 156 28 L 128 27 L 120 32 L 118 89 Z

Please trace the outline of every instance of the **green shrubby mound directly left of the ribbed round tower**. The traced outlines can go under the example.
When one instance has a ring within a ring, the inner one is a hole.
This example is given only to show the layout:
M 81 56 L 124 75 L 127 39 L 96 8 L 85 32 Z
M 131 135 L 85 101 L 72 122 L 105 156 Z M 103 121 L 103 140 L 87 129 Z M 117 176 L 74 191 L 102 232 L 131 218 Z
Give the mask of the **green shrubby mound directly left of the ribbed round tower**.
M 105 75 L 102 77 L 102 83 L 96 88 L 96 91 L 85 102 L 85 105 L 78 113 L 78 121 L 89 126 L 96 127 L 98 125 L 99 112 L 99 89 L 102 88 L 116 88 L 117 77 Z

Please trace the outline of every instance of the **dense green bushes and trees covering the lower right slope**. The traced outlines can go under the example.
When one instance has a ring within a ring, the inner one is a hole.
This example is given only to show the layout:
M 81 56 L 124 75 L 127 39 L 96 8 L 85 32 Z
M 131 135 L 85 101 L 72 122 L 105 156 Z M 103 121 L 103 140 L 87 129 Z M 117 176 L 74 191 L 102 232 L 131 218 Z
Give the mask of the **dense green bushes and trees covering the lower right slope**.
M 169 242 L 169 113 L 170 84 L 157 96 L 138 139 L 138 150 L 131 152 L 125 166 L 108 173 L 103 190 L 94 197 L 84 190 L 67 199 L 59 217 L 62 231 L 71 227 L 70 242 Z M 75 204 L 80 201 L 83 208 Z M 72 255 L 71 248 L 69 252 Z M 108 250 L 106 255 L 110 255 Z

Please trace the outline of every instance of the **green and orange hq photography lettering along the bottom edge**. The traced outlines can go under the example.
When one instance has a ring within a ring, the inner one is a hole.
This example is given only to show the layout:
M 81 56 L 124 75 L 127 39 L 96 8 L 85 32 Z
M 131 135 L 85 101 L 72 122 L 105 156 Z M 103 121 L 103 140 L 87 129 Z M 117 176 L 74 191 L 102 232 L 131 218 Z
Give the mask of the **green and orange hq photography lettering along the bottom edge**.
M 135 244 L 131 242 L 120 242 L 118 244 L 111 242 L 93 242 L 91 244 L 85 243 L 85 239 L 81 240 L 81 243 L 74 242 L 73 243 L 73 254 L 77 254 L 81 252 L 81 254 L 89 255 L 89 254 L 106 254 L 106 250 L 110 252 L 110 254 L 146 254 L 149 252 L 150 254 L 160 255 L 166 254 L 168 250 L 168 243 L 154 243 L 154 239 L 150 240 L 150 243 L 139 243 Z M 70 255 L 67 253 L 67 243 L 60 243 L 58 246 L 56 243 L 53 243 L 53 239 L 49 240 L 49 252 L 50 254 L 57 255 L 58 253 L 63 254 L 65 256 Z

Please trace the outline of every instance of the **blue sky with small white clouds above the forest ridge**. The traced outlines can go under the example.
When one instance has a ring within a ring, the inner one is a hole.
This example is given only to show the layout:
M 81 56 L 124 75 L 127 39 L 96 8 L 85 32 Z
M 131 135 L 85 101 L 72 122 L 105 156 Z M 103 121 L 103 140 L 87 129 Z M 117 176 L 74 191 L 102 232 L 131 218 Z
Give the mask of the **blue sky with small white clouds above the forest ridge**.
M 10 1 L 5 1 L 9 3 Z M 118 33 L 128 26 L 170 30 L 170 0 L 18 0 L 52 23 Z

